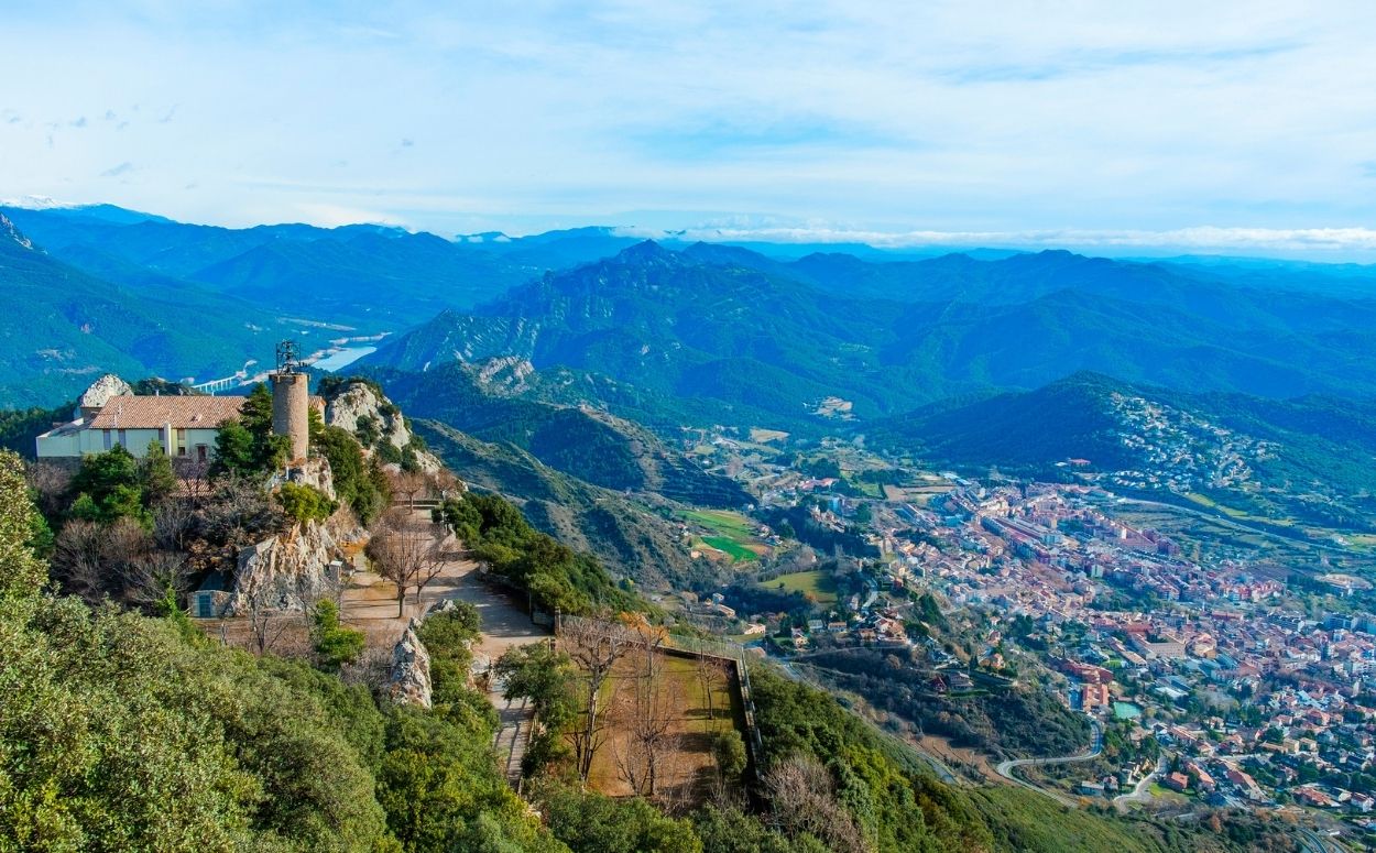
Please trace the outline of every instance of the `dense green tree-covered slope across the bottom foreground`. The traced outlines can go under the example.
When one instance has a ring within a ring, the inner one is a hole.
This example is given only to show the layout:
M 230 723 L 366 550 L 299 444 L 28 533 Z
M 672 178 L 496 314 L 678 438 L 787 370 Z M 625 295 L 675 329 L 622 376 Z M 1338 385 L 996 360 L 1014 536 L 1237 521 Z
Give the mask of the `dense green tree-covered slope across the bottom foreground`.
M 947 788 L 828 696 L 764 669 L 772 819 L 722 803 L 673 820 L 546 779 L 541 821 L 483 746 L 495 720 L 464 681 L 472 609 L 421 629 L 443 662 L 433 709 L 378 702 L 327 659 L 255 658 L 175 608 L 150 618 L 54 594 L 26 488 L 18 458 L 0 454 L 4 849 L 1128 852 L 1247 849 L 1255 832 L 1243 819 L 1207 835 Z

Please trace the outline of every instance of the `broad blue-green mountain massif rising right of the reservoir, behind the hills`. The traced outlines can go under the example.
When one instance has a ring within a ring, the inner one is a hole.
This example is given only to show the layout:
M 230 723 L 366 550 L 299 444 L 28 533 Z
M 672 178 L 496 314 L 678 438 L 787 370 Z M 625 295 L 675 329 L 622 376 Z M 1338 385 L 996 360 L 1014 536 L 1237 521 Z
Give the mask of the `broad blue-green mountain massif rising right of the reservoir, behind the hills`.
M 874 283 L 915 270 L 922 278 L 904 289 Z M 872 289 L 890 296 L 854 296 Z M 1376 377 L 1361 367 L 1376 359 L 1373 329 L 1376 300 L 1240 288 L 1065 252 L 780 263 L 645 242 L 471 312 L 443 312 L 367 360 L 425 370 L 516 356 L 799 424 L 815 422 L 828 396 L 874 418 L 1079 370 L 1190 391 L 1376 395 Z

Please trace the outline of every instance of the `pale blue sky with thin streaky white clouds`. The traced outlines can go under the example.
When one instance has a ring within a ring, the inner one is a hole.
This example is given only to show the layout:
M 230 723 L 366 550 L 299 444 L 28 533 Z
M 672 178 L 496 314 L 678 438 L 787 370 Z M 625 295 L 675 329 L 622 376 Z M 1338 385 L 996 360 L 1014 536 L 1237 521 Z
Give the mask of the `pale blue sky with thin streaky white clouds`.
M 1376 263 L 1369 0 L 0 0 L 0 198 Z

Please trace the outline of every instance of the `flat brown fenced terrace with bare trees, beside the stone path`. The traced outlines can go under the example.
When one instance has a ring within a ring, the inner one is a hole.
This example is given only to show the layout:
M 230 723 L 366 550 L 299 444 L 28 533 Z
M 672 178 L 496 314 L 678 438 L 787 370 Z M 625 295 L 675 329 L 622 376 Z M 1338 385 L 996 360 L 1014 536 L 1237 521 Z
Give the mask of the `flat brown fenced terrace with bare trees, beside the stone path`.
M 739 687 L 729 670 L 713 658 L 655 652 L 648 681 L 645 673 L 641 652 L 618 662 L 603 692 L 612 725 L 593 758 L 589 784 L 611 797 L 636 792 L 629 781 L 634 777 L 632 768 L 637 755 L 633 732 L 651 715 L 659 718 L 658 725 L 665 729 L 663 746 L 658 747 L 655 795 L 667 802 L 698 805 L 706 799 L 716 779 L 713 744 L 717 735 L 736 729 L 744 737 Z

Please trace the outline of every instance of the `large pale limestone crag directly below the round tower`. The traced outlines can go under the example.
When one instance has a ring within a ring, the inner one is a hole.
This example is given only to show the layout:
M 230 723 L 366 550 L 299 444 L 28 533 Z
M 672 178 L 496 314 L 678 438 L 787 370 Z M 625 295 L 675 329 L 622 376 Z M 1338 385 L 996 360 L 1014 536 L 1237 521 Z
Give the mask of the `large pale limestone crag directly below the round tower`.
M 239 552 L 227 615 L 264 609 L 305 611 L 340 582 L 340 532 L 307 521 Z

